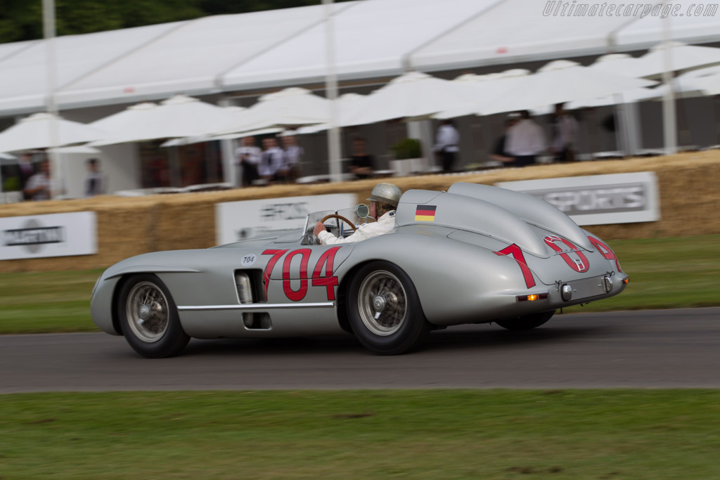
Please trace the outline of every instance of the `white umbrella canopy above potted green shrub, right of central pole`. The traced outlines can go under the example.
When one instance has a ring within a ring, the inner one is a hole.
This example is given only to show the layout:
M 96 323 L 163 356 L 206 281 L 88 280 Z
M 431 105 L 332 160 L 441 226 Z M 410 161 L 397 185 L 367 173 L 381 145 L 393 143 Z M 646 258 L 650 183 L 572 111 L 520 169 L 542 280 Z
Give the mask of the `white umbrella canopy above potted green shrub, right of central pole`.
M 421 72 L 405 73 L 367 96 L 362 107 L 341 125 L 427 117 L 463 107 L 477 95 L 477 89 L 464 82 L 443 80 Z

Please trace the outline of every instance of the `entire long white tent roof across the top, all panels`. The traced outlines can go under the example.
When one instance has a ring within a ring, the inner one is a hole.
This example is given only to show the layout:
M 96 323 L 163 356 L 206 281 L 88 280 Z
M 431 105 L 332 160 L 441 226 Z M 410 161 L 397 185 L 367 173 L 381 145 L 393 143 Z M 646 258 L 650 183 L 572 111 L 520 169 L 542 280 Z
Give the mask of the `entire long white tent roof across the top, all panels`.
M 694 0 L 680 0 L 680 13 Z M 537 0 L 356 0 L 334 4 L 341 80 L 642 50 L 660 17 L 546 15 Z M 706 4 L 708 7 L 709 4 Z M 204 17 L 55 39 L 62 109 L 323 79 L 325 6 Z M 673 40 L 720 41 L 720 16 L 670 18 Z M 0 116 L 43 110 L 44 40 L 0 45 Z

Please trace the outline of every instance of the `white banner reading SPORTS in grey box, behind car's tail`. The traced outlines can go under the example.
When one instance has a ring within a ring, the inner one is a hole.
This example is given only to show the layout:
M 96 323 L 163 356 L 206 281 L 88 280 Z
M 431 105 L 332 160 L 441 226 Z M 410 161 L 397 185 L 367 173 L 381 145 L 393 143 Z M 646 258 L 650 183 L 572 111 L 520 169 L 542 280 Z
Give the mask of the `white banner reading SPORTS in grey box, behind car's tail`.
M 653 172 L 509 181 L 496 186 L 543 199 L 577 225 L 660 220 L 660 192 Z

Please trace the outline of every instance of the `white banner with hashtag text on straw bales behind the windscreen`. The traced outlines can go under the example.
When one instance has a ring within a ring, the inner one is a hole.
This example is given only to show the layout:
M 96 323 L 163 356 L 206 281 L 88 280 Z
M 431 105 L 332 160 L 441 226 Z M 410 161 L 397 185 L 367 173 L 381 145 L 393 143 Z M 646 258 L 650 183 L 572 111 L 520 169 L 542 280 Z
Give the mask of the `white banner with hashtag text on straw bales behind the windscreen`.
M 305 227 L 307 214 L 353 208 L 356 204 L 355 194 L 226 201 L 215 205 L 217 244 L 238 242 L 260 235 L 283 235 L 288 230 L 300 232 Z

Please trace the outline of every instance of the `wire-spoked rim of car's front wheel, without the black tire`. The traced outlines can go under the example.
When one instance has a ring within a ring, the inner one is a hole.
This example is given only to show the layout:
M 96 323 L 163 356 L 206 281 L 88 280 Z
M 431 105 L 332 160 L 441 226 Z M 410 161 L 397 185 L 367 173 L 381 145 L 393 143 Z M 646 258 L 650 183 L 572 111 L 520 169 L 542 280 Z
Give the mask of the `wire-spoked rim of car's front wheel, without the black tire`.
M 127 295 L 125 313 L 130 329 L 143 342 L 157 342 L 168 330 L 168 300 L 163 291 L 149 281 L 132 287 Z

